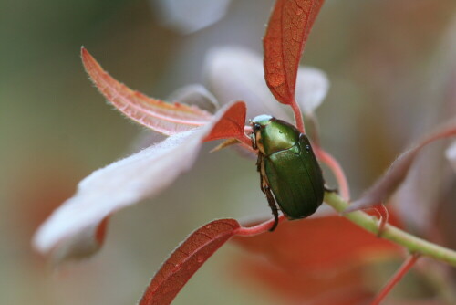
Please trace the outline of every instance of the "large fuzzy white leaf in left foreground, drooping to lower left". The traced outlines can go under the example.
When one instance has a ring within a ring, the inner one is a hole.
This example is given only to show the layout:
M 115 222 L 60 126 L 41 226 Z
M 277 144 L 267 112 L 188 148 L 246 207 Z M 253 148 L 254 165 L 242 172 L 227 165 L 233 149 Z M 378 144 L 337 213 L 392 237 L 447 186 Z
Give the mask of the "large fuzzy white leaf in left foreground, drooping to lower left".
M 202 128 L 175 134 L 130 157 L 95 171 L 38 229 L 34 247 L 58 258 L 83 257 L 99 247 L 98 226 L 117 210 L 157 195 L 194 163 L 204 139 L 223 115 L 242 102 L 226 105 Z

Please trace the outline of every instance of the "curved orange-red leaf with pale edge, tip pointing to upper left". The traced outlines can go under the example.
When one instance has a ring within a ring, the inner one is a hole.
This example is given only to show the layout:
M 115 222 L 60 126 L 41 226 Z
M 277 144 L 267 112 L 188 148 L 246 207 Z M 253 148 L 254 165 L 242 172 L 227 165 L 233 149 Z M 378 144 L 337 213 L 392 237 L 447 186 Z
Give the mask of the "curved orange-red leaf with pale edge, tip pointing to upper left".
M 98 62 L 81 49 L 82 62 L 90 79 L 109 102 L 133 121 L 154 131 L 173 135 L 202 126 L 212 114 L 196 106 L 151 99 L 109 76 Z

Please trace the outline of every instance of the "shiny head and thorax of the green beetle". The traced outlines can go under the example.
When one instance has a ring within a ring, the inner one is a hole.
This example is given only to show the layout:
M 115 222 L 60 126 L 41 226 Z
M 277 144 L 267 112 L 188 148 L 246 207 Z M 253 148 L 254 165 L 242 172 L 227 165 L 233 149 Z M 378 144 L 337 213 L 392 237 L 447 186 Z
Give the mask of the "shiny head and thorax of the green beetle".
M 270 155 L 293 147 L 299 141 L 300 132 L 286 121 L 264 116 L 256 117 L 254 124 L 254 142 L 264 155 Z

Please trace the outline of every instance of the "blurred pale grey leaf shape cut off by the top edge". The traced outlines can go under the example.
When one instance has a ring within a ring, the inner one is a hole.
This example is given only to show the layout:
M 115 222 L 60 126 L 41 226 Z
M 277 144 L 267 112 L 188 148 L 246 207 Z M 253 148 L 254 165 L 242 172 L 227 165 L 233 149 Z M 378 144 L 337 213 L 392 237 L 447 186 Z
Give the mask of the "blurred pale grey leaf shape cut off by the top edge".
M 157 17 L 165 26 L 190 34 L 219 21 L 230 0 L 153 0 L 159 8 Z

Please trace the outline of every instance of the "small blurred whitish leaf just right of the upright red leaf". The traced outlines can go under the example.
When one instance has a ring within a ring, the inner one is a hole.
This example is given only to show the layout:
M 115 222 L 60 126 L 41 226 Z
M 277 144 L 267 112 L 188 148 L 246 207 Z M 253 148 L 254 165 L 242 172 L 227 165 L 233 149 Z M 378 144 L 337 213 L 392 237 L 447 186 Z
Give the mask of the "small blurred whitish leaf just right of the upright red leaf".
M 295 99 L 304 113 L 313 113 L 326 97 L 329 81 L 317 68 L 299 68 L 297 71 Z

